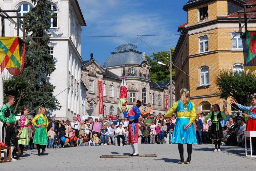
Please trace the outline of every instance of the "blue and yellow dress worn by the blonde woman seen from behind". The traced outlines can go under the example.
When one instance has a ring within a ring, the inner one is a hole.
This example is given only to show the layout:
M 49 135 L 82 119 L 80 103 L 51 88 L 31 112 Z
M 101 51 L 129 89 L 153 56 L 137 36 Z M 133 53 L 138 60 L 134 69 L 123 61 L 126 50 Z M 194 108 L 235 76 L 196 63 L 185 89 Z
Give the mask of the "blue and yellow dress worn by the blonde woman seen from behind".
M 177 112 L 176 123 L 173 130 L 173 144 L 197 144 L 195 129 L 193 122 L 196 119 L 196 107 L 193 102 L 189 101 L 187 106 L 183 106 L 181 101 L 173 103 L 172 107 L 165 114 L 166 117 L 170 117 L 174 112 Z M 188 123 L 191 125 L 184 130 L 185 125 Z

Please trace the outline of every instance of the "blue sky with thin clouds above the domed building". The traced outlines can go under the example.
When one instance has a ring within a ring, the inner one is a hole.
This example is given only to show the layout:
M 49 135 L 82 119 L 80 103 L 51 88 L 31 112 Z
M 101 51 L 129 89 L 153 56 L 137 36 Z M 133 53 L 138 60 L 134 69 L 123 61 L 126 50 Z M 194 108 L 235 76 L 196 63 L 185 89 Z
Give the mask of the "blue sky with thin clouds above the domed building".
M 188 0 L 78 0 L 87 26 L 82 36 L 126 36 L 179 34 L 178 26 L 186 23 L 187 13 L 182 9 Z M 101 65 L 116 51 L 116 47 L 136 37 L 81 38 L 83 60 L 90 53 Z M 142 36 L 144 42 L 157 51 L 175 47 L 179 35 Z M 151 56 L 154 52 L 139 39 L 132 44 L 137 50 Z

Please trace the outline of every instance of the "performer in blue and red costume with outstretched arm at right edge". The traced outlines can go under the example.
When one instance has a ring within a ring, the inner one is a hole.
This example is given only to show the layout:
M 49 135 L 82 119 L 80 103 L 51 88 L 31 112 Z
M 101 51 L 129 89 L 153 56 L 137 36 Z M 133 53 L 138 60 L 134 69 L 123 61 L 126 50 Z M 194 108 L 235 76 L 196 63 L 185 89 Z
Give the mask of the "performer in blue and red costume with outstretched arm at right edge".
M 246 131 L 256 131 L 256 96 L 253 97 L 252 103 L 253 106 L 243 106 L 238 104 L 235 100 L 230 99 L 230 101 L 236 104 L 243 111 L 249 111 L 249 114 L 244 114 L 245 117 L 248 117 L 248 122 L 246 125 Z M 252 145 L 253 145 L 253 156 L 256 156 L 256 137 L 252 137 Z

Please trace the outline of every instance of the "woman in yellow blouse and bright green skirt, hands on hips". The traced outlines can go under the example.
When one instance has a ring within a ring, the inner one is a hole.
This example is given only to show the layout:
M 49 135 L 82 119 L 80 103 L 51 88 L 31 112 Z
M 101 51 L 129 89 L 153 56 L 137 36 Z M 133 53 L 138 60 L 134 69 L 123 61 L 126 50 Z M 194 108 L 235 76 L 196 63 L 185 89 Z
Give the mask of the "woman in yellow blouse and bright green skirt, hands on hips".
M 46 145 L 48 145 L 48 134 L 46 130 L 46 128 L 48 127 L 48 119 L 44 114 L 45 108 L 39 108 L 39 113 L 35 115 L 35 117 L 31 121 L 31 123 L 36 126 L 33 143 L 36 144 L 38 156 L 48 155 L 44 152 Z M 42 147 L 42 153 L 40 153 L 40 147 Z

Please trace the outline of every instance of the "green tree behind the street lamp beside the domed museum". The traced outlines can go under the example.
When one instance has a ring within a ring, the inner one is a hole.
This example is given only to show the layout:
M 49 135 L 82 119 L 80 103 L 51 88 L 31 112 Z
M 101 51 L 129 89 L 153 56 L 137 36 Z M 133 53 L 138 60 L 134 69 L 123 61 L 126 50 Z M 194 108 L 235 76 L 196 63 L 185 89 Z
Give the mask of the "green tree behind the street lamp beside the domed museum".
M 171 52 L 173 54 L 174 48 L 171 49 Z M 158 54 L 159 53 L 159 54 Z M 145 56 L 147 59 L 148 63 L 151 66 L 150 70 L 150 79 L 154 82 L 159 82 L 159 81 L 169 81 L 170 80 L 170 71 L 168 66 L 164 65 L 158 65 L 157 62 L 160 61 L 166 65 L 170 66 L 170 53 L 168 51 L 161 51 L 158 53 L 152 53 L 151 59 L 150 56 Z M 161 55 L 164 57 L 162 57 Z M 175 79 L 175 73 L 174 73 L 174 66 L 172 65 L 172 78 L 173 80 Z

